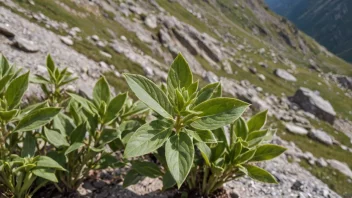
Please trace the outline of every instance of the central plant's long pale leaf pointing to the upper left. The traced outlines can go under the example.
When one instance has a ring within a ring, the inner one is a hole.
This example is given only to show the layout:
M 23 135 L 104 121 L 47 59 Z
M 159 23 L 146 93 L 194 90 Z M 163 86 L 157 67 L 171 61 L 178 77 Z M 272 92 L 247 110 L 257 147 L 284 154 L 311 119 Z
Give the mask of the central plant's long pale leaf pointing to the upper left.
M 173 107 L 156 84 L 141 75 L 124 74 L 124 76 L 129 87 L 141 101 L 164 118 L 173 118 Z

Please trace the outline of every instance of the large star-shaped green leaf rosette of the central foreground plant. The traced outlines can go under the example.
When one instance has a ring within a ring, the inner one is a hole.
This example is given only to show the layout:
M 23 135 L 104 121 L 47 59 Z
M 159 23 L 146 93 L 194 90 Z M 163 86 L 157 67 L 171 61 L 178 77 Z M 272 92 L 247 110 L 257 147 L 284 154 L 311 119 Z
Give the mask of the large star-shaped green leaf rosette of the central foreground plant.
M 220 83 L 198 90 L 198 82 L 193 81 L 190 67 L 181 54 L 171 65 L 164 90 L 143 76 L 124 76 L 135 95 L 157 113 L 155 120 L 133 133 L 124 156 L 155 152 L 167 170 L 164 182 L 175 181 L 179 188 L 193 166 L 194 143 L 216 143 L 211 130 L 233 123 L 249 106 L 234 98 L 221 97 Z M 143 173 L 135 168 L 135 175 Z

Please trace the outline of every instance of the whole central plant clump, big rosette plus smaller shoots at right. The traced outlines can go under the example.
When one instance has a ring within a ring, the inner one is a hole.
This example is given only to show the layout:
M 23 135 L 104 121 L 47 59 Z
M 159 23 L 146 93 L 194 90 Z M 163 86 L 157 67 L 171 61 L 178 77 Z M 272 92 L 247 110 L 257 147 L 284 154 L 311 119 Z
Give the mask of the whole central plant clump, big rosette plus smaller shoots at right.
M 155 120 L 133 133 L 124 156 L 153 153 L 165 169 L 161 172 L 150 163 L 132 162 L 125 186 L 144 176 L 163 175 L 164 189 L 175 184 L 180 188 L 186 181 L 189 189 L 209 195 L 223 183 L 244 175 L 276 182 L 265 170 L 247 163 L 271 159 L 285 150 L 276 145 L 259 145 L 272 133 L 261 130 L 266 112 L 254 116 L 247 124 L 241 115 L 249 104 L 222 97 L 220 83 L 198 89 L 199 83 L 193 81 L 190 67 L 181 54 L 171 65 L 166 87 L 159 87 L 140 75 L 124 76 L 135 95 L 156 113 Z M 228 125 L 231 125 L 230 141 L 224 132 Z M 199 162 L 199 156 L 204 163 Z

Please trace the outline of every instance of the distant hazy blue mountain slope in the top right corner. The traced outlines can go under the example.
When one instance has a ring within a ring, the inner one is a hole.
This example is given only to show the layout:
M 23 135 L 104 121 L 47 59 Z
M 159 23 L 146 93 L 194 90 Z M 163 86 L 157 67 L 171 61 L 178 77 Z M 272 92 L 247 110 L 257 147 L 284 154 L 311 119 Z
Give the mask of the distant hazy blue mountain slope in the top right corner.
M 276 13 L 292 21 L 331 52 L 352 61 L 352 2 L 348 0 L 266 0 Z

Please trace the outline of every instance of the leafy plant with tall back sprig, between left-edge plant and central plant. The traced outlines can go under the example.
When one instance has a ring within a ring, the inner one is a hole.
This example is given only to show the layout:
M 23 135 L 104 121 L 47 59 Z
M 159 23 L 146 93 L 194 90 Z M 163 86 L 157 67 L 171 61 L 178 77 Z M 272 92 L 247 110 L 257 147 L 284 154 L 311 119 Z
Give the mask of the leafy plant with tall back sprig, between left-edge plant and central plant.
M 90 170 L 124 165 L 114 152 L 124 147 L 129 131 L 140 125 L 140 121 L 130 119 L 131 116 L 147 109 L 141 103 L 133 104 L 127 93 L 112 97 L 104 77 L 95 84 L 92 99 L 74 93 L 67 93 L 67 98 L 63 98 L 62 86 L 75 79 L 66 69 L 60 71 L 50 56 L 47 71 L 50 80 L 37 76 L 36 82 L 43 85 L 51 105 L 62 106 L 66 111 L 59 113 L 52 125 L 44 128 L 43 138 L 52 146 L 47 149 L 47 155 L 67 170 L 58 173 L 61 183 L 56 187 L 61 192 L 74 191 Z M 49 86 L 53 87 L 53 92 L 48 91 Z

